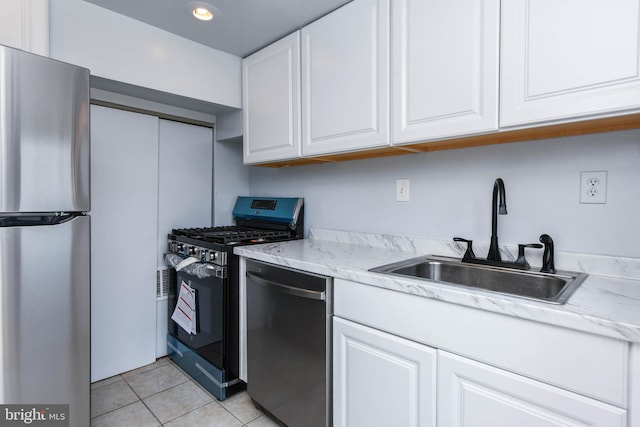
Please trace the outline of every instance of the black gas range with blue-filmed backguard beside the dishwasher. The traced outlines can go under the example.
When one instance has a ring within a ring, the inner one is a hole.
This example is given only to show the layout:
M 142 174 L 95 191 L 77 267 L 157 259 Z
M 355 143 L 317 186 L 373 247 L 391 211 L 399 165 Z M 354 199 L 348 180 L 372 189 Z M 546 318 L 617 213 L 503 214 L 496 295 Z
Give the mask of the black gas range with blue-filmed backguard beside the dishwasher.
M 302 239 L 303 211 L 302 198 L 238 197 L 235 225 L 169 234 L 167 353 L 219 400 L 244 388 L 239 378 L 240 257 L 233 248 Z

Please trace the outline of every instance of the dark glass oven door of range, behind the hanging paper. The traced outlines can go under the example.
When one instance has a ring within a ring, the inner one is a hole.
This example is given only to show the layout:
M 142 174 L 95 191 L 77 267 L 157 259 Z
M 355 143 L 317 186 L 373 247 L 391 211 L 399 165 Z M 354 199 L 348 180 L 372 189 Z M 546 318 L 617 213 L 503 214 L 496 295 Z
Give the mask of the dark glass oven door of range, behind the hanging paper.
M 228 307 L 227 279 L 215 275 L 199 278 L 186 271 L 174 270 L 169 292 L 169 334 L 196 351 L 213 365 L 223 369 L 228 342 L 225 319 Z M 191 334 L 171 319 L 178 303 L 179 289 L 186 283 L 195 291 L 196 333 Z

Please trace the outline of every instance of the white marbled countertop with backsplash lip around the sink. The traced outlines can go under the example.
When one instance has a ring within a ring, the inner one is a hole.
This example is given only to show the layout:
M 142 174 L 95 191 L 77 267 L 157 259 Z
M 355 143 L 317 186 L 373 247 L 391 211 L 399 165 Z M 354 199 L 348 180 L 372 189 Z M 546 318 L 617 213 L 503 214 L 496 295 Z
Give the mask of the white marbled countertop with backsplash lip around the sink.
M 529 319 L 640 343 L 640 260 L 556 251 L 558 270 L 584 271 L 589 277 L 566 304 L 549 304 L 442 283 L 372 273 L 373 267 L 422 255 L 461 257 L 462 245 L 404 236 L 312 229 L 310 237 L 280 243 L 241 246 L 237 255 L 312 273 L 448 303 Z M 502 247 L 503 259 L 517 250 Z M 486 245 L 474 243 L 483 254 Z M 527 258 L 540 266 L 540 253 Z M 537 253 L 540 252 L 540 253 Z

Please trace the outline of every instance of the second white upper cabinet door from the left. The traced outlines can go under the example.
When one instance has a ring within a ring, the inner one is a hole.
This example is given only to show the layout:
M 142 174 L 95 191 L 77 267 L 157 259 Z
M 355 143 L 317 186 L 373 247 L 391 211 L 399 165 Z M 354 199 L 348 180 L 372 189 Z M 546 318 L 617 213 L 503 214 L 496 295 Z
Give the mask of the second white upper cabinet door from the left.
M 389 0 L 354 0 L 302 29 L 302 154 L 389 143 Z

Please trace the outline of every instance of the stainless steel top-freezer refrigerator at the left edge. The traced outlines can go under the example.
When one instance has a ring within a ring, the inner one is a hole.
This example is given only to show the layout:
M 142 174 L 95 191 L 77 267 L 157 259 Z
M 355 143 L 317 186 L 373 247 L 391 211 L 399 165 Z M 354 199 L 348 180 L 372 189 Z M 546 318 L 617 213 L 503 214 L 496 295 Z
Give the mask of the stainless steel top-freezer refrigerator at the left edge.
M 90 423 L 89 172 L 89 71 L 0 46 L 0 404 L 69 405 L 78 427 Z

